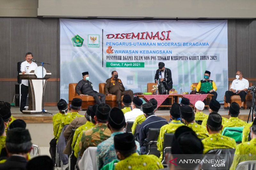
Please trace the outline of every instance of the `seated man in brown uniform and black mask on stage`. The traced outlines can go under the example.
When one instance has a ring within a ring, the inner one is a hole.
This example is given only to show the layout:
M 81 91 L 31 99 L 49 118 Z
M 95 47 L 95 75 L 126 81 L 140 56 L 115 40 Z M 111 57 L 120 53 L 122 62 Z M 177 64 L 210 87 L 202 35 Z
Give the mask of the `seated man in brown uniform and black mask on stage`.
M 116 95 L 116 102 L 117 106 L 121 108 L 121 97 L 122 95 L 129 95 L 133 99 L 133 92 L 132 90 L 125 90 L 122 81 L 118 78 L 117 71 L 112 71 L 112 77 L 106 80 L 106 85 L 104 91 L 107 96 L 112 94 Z

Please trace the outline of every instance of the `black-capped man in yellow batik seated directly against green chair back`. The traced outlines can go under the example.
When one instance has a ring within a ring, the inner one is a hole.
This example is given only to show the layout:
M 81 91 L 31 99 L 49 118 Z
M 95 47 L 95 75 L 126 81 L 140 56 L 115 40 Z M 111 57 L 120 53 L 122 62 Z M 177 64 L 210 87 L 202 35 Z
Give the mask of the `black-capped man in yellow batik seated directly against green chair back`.
M 236 102 L 232 102 L 228 111 L 229 119 L 222 123 L 223 129 L 226 127 L 246 126 L 247 125 L 246 122 L 238 119 L 239 113 L 240 113 L 239 105 Z

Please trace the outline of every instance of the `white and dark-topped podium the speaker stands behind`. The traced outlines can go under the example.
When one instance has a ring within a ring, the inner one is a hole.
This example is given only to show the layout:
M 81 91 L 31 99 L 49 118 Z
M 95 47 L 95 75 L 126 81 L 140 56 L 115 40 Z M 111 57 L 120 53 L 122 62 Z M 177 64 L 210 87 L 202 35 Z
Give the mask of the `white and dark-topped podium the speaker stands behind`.
M 37 78 L 34 70 L 32 70 L 30 73 L 25 73 L 24 75 L 19 73 L 19 75 L 20 79 L 28 80 L 28 110 L 23 110 L 23 113 L 33 114 L 36 112 L 41 112 L 43 108 L 45 85 L 47 79 L 51 77 L 52 73 L 49 70 L 46 70 L 43 78 Z M 44 83 L 42 81 L 44 81 Z

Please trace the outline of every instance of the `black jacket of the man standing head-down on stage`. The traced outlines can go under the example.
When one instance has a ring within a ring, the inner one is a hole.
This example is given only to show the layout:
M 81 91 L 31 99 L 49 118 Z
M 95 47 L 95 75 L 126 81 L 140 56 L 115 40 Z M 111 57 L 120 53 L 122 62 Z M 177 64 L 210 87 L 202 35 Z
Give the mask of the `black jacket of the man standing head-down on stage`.
M 165 89 L 167 90 L 167 92 L 169 94 L 169 91 L 172 89 L 172 72 L 170 69 L 165 68 L 164 69 L 164 81 L 160 82 L 159 71 L 160 71 L 159 69 L 156 70 L 155 82 L 157 80 L 159 83 L 163 83 Z M 161 86 L 158 86 L 158 89 L 159 89 L 159 94 L 165 94 L 165 92 L 161 91 Z

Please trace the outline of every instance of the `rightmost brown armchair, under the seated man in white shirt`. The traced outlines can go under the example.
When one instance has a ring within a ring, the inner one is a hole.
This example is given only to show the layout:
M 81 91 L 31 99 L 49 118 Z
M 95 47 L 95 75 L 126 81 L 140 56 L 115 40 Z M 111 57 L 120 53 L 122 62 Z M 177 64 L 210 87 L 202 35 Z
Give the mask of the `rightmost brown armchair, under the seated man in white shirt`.
M 232 83 L 229 83 L 228 86 L 228 90 L 230 90 Z M 249 87 L 252 86 L 252 82 L 249 83 Z M 247 107 L 251 107 L 252 106 L 252 94 L 250 93 L 251 91 L 249 90 L 245 96 L 245 101 L 244 101 L 244 108 L 246 109 Z M 239 104 L 239 106 L 241 107 L 241 97 L 239 95 L 233 95 L 230 98 L 230 102 L 232 103 L 233 101 L 235 101 L 236 103 Z M 228 107 L 228 103 L 226 103 L 226 96 L 224 95 L 224 107 Z

